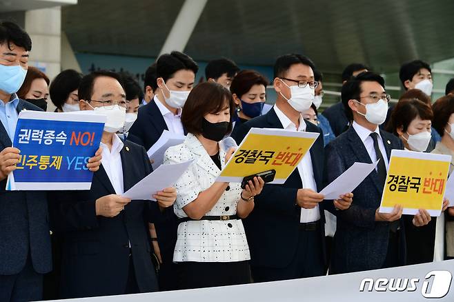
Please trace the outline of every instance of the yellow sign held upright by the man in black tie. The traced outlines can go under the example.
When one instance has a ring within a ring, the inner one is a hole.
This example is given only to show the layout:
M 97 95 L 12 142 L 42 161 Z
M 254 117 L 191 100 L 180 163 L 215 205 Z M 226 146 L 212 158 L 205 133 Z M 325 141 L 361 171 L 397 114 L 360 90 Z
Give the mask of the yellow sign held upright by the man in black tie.
M 402 205 L 403 214 L 426 209 L 440 216 L 451 157 L 448 155 L 393 150 L 379 212 Z

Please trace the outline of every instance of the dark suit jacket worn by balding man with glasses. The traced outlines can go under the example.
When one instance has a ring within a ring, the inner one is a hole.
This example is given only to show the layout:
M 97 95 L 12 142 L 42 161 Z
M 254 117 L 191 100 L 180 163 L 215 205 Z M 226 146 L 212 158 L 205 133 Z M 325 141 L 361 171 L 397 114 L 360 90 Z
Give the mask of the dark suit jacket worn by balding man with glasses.
M 151 172 L 151 165 L 144 148 L 130 141 L 120 155 L 126 192 Z M 124 294 L 130 251 L 139 290 L 157 290 L 148 233 L 148 222 L 159 219 L 157 203 L 135 200 L 116 217 L 97 216 L 95 201 L 109 194 L 115 190 L 102 165 L 90 190 L 50 193 L 52 223 L 62 239 L 62 298 Z

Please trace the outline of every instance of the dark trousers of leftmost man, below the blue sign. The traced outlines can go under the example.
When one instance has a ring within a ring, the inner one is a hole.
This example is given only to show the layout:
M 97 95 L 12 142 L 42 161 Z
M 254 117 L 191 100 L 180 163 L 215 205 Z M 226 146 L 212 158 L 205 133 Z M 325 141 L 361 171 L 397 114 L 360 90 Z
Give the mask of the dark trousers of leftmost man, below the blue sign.
M 38 301 L 43 299 L 43 274 L 34 271 L 30 256 L 19 274 L 0 275 L 0 301 Z

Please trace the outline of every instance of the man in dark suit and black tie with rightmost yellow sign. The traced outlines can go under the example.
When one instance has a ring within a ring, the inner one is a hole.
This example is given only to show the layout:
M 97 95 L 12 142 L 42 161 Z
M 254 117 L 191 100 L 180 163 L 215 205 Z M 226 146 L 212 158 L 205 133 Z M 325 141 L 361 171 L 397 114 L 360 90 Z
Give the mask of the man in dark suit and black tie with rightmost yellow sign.
M 378 127 L 386 119 L 389 99 L 384 79 L 373 72 L 359 74 L 342 87 L 342 103 L 353 124 L 326 147 L 326 180 L 335 180 L 355 162 L 379 163 L 353 190 L 351 207 L 336 213 L 331 274 L 391 268 L 405 262 L 402 206 L 379 213 L 391 150 L 403 149 L 400 139 Z M 420 210 L 413 224 L 426 225 L 430 220 L 428 212 Z

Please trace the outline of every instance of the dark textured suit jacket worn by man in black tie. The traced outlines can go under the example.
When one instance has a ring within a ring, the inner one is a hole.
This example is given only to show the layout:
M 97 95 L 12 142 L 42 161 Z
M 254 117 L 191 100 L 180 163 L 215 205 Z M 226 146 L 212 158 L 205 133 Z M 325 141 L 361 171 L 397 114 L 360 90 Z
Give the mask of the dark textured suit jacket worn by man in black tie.
M 388 159 L 392 149 L 403 149 L 402 141 L 393 134 L 380 130 Z M 353 127 L 326 146 L 326 178 L 335 180 L 355 162 L 371 163 L 371 157 Z M 373 170 L 353 190 L 353 203 L 348 210 L 336 211 L 337 230 L 334 236 L 330 272 L 334 274 L 382 268 L 389 240 L 388 222 L 375 221 L 383 187 Z M 401 234 L 404 224 L 400 220 Z M 399 261 L 405 262 L 405 236 L 400 236 Z

